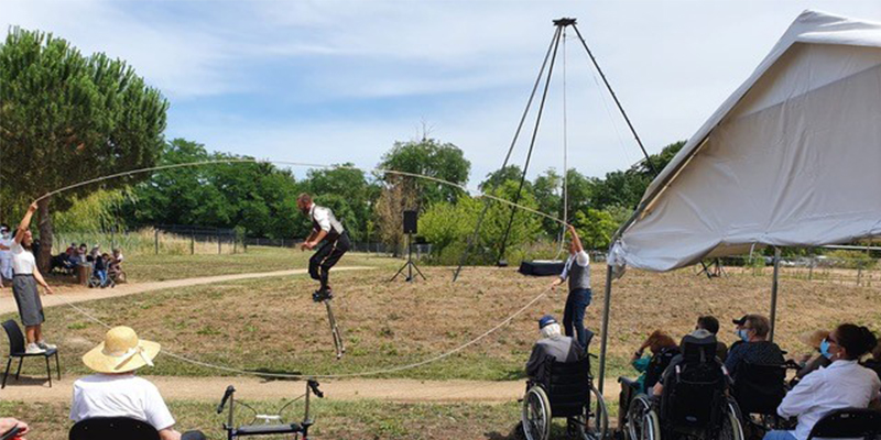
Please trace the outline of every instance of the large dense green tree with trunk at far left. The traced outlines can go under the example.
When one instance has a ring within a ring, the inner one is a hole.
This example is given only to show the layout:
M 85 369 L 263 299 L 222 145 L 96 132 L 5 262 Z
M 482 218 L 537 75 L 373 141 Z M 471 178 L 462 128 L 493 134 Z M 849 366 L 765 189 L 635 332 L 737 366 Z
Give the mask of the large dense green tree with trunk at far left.
M 19 28 L 0 46 L 0 186 L 25 199 L 153 166 L 168 107 L 124 62 L 84 57 L 64 40 Z M 139 178 L 106 180 L 102 187 Z M 52 210 L 93 190 L 80 187 L 40 201 L 41 270 L 48 270 L 52 253 Z

